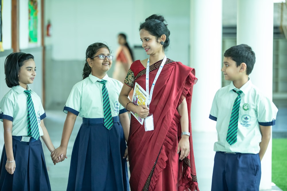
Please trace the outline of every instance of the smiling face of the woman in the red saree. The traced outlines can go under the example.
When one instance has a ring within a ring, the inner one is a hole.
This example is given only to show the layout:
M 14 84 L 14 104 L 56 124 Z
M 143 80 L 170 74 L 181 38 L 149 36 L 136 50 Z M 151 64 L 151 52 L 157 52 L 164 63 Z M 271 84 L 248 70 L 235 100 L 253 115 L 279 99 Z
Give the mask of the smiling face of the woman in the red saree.
M 159 40 L 151 35 L 149 31 L 141 29 L 139 31 L 139 36 L 141 38 L 142 47 L 146 51 L 147 55 L 154 55 L 163 52 L 162 45 Z

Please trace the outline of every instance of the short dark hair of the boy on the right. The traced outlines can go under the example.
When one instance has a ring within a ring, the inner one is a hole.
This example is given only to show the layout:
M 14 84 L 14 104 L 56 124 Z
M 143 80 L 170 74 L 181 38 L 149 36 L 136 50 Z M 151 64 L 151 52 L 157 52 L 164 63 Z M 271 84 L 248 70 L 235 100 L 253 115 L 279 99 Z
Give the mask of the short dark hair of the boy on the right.
M 244 62 L 247 66 L 246 74 L 249 75 L 255 63 L 255 53 L 247 44 L 232 46 L 224 52 L 224 57 L 230 57 L 236 62 L 236 66 L 240 66 Z

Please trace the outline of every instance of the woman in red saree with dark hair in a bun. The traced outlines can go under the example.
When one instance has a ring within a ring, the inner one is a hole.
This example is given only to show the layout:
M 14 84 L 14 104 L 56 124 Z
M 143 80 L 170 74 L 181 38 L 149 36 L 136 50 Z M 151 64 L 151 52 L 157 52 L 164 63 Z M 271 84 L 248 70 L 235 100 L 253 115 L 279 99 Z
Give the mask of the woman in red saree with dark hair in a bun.
M 162 16 L 151 15 L 141 23 L 142 47 L 150 58 L 133 62 L 119 96 L 119 102 L 127 110 L 141 118 L 153 114 L 154 122 L 154 130 L 145 131 L 144 124 L 131 117 L 130 187 L 131 191 L 199 191 L 190 121 L 192 89 L 197 78 L 193 68 L 166 59 L 164 48 L 169 45 L 170 32 L 163 21 Z M 151 63 L 148 80 L 151 89 L 163 60 L 149 107 L 134 105 L 128 95 L 135 82 L 146 89 L 146 68 Z

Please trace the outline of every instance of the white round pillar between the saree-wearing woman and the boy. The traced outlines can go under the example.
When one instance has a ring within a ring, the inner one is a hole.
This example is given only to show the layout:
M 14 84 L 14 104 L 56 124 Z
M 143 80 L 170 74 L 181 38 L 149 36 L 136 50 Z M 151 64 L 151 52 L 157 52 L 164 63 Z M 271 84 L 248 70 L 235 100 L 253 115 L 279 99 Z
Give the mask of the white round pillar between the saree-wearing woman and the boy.
M 198 78 L 193 87 L 192 129 L 216 131 L 216 123 L 208 117 L 221 88 L 222 0 L 191 0 L 190 6 L 190 66 Z

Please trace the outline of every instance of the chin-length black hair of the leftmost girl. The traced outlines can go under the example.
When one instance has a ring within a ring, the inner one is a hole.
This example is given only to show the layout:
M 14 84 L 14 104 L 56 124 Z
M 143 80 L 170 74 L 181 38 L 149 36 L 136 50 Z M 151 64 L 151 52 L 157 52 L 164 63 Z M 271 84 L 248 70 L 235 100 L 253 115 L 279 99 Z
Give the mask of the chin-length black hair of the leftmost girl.
M 24 65 L 24 62 L 30 59 L 34 60 L 34 56 L 24 52 L 13 52 L 6 57 L 4 70 L 6 84 L 9 88 L 19 85 L 20 68 Z

